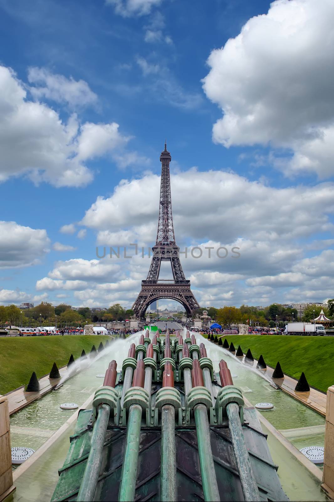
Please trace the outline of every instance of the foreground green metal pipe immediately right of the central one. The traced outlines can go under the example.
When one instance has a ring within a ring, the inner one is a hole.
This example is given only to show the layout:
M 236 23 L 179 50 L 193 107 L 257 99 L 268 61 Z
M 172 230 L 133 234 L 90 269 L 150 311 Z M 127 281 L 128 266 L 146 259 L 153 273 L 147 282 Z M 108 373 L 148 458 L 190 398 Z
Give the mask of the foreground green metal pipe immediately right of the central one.
M 211 450 L 210 427 L 206 406 L 201 404 L 196 405 L 194 408 L 194 414 L 204 500 L 206 502 L 219 502 L 220 496 Z

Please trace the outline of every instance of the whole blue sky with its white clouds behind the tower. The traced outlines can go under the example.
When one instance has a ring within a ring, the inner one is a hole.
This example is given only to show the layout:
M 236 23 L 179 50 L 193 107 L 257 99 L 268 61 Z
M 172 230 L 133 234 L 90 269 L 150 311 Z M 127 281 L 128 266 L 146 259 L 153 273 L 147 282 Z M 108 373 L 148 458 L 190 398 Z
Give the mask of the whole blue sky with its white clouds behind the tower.
M 154 243 L 165 137 L 177 242 L 229 250 L 183 261 L 201 305 L 331 298 L 333 6 L 317 5 L 0 0 L 0 303 L 132 305 L 148 258 L 95 249 Z

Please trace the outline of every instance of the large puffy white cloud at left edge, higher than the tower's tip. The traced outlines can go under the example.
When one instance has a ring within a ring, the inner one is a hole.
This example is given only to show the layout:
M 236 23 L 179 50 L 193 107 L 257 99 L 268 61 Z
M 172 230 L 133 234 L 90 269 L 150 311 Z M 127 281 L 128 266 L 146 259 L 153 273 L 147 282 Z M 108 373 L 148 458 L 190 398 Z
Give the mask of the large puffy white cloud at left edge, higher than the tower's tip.
M 26 175 L 36 184 L 86 186 L 93 173 L 84 161 L 111 152 L 123 155 L 129 139 L 116 122 L 80 126 L 76 114 L 62 121 L 48 105 L 29 101 L 14 71 L 0 66 L 0 182 Z

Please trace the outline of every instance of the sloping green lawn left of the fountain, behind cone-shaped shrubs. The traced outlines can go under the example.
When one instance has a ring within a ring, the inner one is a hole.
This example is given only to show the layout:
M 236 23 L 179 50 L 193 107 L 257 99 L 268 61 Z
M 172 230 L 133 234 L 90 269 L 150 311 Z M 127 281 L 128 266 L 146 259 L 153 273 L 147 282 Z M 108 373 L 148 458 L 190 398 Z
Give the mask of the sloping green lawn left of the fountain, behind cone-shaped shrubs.
M 6 394 L 28 384 L 33 371 L 37 378 L 50 373 L 54 361 L 57 366 L 68 363 L 70 355 L 80 357 L 82 349 L 90 352 L 105 335 L 24 336 L 0 338 L 0 394 Z

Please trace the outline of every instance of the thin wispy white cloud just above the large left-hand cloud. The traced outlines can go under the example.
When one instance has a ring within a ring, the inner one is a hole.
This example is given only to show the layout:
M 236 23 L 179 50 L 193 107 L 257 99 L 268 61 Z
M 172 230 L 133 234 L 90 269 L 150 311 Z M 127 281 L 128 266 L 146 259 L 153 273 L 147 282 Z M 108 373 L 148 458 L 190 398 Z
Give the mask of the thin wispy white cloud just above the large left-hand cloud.
M 30 92 L 36 99 L 51 99 L 68 103 L 70 107 L 81 107 L 97 103 L 97 95 L 84 80 L 74 80 L 52 73 L 47 68 L 29 68 L 28 80 L 35 86 Z

